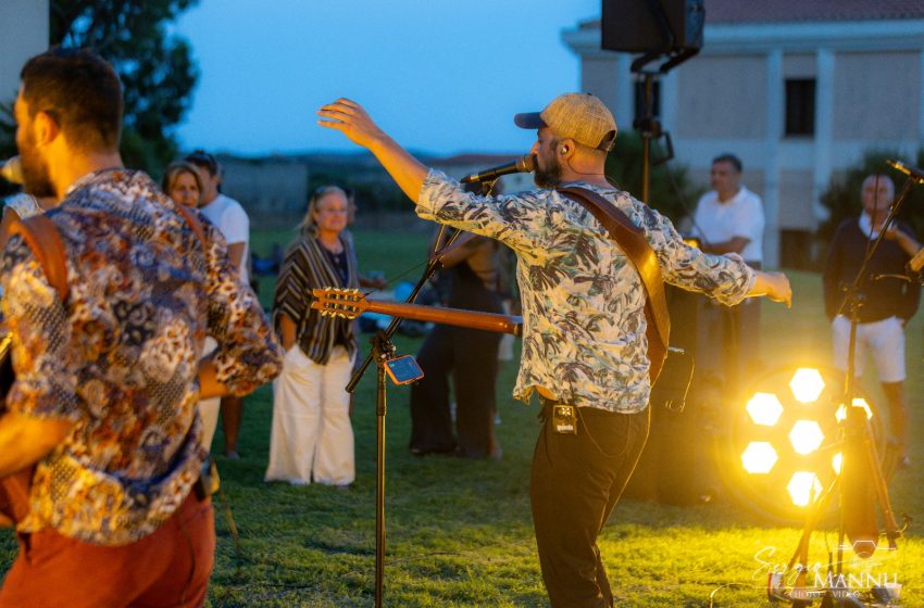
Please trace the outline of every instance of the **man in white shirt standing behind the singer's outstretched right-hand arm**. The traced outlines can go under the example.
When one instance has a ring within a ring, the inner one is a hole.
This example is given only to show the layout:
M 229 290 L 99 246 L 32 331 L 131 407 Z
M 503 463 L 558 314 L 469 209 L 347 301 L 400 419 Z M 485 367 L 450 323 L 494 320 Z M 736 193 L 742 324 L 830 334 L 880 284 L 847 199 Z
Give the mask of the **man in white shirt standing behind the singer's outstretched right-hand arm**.
M 712 190 L 697 203 L 694 236 L 707 253 L 736 253 L 749 266 L 760 269 L 763 262 L 763 204 L 760 197 L 741 183 L 741 161 L 734 154 L 713 159 Z M 726 388 L 754 370 L 760 356 L 760 302 L 746 300 L 738 306 L 707 305 L 699 317 L 700 347 L 707 368 L 716 366 Z M 717 338 L 721 337 L 721 338 Z M 741 347 L 747 341 L 748 347 Z M 703 343 L 706 342 L 706 343 Z M 711 351 L 711 353 L 710 353 Z M 737 362 L 737 365 L 734 363 Z

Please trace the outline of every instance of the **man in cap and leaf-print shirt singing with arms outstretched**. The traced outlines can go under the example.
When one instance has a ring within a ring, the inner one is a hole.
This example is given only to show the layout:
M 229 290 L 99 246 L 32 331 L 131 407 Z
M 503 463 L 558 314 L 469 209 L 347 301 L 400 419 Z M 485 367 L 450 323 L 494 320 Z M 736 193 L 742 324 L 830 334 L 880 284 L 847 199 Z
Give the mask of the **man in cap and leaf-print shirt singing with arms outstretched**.
M 530 481 L 542 579 L 553 607 L 612 606 L 597 535 L 648 434 L 646 292 L 607 229 L 551 188 L 579 186 L 622 210 L 644 230 L 672 284 L 725 304 L 763 294 L 789 304 L 788 280 L 740 257 L 687 246 L 666 218 L 610 186 L 603 165 L 616 124 L 594 96 L 563 94 L 540 113 L 514 117 L 537 129 L 535 181 L 544 189 L 500 197 L 467 193 L 428 169 L 353 101 L 339 99 L 319 115 L 319 124 L 378 159 L 420 217 L 497 239 L 516 253 L 524 331 L 514 396 L 528 402 L 536 392 L 544 406 Z M 569 427 L 554 423 L 553 409 L 576 411 L 570 428 L 576 433 L 560 433 Z

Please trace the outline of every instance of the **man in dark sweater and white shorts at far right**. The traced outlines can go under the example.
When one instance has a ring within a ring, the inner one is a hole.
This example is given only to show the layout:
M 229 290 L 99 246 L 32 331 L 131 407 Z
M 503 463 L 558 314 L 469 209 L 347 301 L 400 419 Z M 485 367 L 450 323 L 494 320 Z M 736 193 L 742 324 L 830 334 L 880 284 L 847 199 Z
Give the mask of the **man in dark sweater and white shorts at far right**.
M 824 274 L 825 314 L 832 320 L 834 365 L 847 370 L 850 351 L 850 311 L 844 305 L 845 288 L 853 284 L 866 251 L 875 241 L 895 197 L 895 185 L 885 175 L 871 175 L 860 192 L 863 212 L 860 218 L 845 219 L 837 228 L 827 253 Z M 904 233 L 899 238 L 898 233 Z M 866 351 L 873 353 L 883 393 L 889 405 L 891 441 L 900 466 L 910 464 L 907 456 L 909 413 L 904 396 L 904 326 L 917 312 L 921 287 L 896 275 L 904 274 L 911 255 L 901 241 L 914 241 L 914 231 L 899 223 L 886 233 L 886 240 L 870 261 L 860 286 L 863 305 L 857 328 L 856 377 L 863 375 Z

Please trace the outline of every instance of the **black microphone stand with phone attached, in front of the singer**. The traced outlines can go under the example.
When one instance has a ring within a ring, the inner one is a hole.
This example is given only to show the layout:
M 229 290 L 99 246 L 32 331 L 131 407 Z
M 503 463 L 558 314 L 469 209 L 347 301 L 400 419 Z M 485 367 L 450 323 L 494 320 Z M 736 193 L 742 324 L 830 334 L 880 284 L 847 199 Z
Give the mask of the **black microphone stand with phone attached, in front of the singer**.
M 478 183 L 482 187 L 482 194 L 487 195 L 490 193 L 496 181 L 497 178 L 494 178 L 490 181 L 479 181 Z M 445 225 L 439 227 L 439 233 L 436 239 L 436 244 L 434 245 L 434 255 L 427 262 L 427 265 L 424 267 L 423 275 L 417 280 L 417 283 L 414 286 L 411 294 L 408 296 L 408 300 L 405 301 L 408 304 L 413 304 L 414 301 L 416 301 L 421 290 L 423 290 L 430 277 L 433 277 L 434 273 L 441 267 L 440 253 L 447 251 L 462 233 L 461 230 L 455 230 L 447 240 L 446 244 L 437 251 L 436 248 L 439 246 L 439 243 L 442 240 L 445 229 Z M 395 347 L 395 344 L 392 344 L 391 337 L 395 335 L 396 331 L 398 331 L 398 328 L 401 326 L 403 320 L 403 318 L 398 316 L 392 317 L 388 327 L 378 331 L 378 333 L 370 340 L 370 343 L 372 344 L 372 352 L 366 356 L 365 360 L 363 360 L 360 368 L 353 372 L 352 378 L 350 378 L 350 381 L 347 384 L 347 392 L 353 393 L 357 390 L 357 385 L 360 383 L 363 375 L 365 375 L 370 364 L 372 364 L 373 360 L 375 362 L 377 368 L 375 393 L 375 608 L 382 608 L 383 579 L 385 574 L 385 417 L 387 415 L 386 392 L 388 389 L 385 364 L 397 356 L 398 350 Z

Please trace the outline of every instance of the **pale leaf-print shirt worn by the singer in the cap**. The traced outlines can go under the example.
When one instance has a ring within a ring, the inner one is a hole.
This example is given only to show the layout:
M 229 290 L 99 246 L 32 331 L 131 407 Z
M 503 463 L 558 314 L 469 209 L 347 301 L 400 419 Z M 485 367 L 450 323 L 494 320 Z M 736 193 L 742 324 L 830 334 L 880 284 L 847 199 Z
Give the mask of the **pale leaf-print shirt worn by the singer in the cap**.
M 586 183 L 645 230 L 665 281 L 737 304 L 754 274 L 738 257 L 684 243 L 671 221 L 626 192 Z M 523 355 L 513 395 L 544 387 L 563 403 L 645 409 L 651 392 L 645 287 L 628 258 L 579 203 L 553 190 L 478 197 L 432 170 L 417 215 L 510 246 L 523 301 Z

